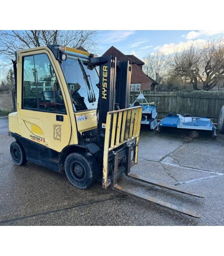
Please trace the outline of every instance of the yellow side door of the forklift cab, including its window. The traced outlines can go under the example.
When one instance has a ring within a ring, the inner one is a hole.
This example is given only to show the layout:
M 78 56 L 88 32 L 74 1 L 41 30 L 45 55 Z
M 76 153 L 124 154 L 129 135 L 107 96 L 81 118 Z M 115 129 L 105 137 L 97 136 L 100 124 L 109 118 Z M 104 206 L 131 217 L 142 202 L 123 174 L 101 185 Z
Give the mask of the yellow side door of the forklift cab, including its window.
M 21 53 L 19 57 L 17 84 L 21 86 L 17 88 L 17 112 L 20 135 L 61 152 L 71 137 L 63 77 L 59 76 L 47 50 Z M 16 132 L 10 126 L 9 130 Z

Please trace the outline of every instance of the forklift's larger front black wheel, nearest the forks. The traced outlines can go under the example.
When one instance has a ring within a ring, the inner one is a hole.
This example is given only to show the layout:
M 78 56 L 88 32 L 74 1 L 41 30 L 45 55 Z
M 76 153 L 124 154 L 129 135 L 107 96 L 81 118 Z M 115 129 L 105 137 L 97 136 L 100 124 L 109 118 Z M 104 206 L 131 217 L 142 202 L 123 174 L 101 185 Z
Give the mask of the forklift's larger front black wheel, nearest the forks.
M 73 186 L 87 189 L 97 181 L 99 167 L 91 154 L 71 153 L 65 159 L 65 173 Z

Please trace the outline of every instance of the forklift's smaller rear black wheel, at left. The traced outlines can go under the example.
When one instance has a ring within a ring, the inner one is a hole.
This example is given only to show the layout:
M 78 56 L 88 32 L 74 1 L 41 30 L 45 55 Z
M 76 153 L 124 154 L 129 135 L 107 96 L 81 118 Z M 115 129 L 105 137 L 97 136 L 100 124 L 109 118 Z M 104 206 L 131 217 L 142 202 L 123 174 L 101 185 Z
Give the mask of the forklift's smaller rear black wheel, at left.
M 17 141 L 11 143 L 10 154 L 16 165 L 23 165 L 27 162 L 25 150 Z

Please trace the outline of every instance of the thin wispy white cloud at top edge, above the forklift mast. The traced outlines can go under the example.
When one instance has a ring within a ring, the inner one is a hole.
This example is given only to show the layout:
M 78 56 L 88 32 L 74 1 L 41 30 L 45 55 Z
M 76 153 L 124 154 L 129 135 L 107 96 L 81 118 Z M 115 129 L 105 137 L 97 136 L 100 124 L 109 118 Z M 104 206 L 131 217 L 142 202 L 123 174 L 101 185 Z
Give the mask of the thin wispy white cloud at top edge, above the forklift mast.
M 104 34 L 104 39 L 101 43 L 114 43 L 120 42 L 127 39 L 129 36 L 133 35 L 135 30 L 112 30 Z

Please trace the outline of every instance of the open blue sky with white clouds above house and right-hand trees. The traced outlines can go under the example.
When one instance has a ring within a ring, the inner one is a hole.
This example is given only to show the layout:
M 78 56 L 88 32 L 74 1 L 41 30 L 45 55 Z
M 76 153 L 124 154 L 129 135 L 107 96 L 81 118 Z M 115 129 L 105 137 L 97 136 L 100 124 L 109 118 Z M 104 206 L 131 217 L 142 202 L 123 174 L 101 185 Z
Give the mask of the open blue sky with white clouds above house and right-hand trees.
M 124 54 L 143 59 L 148 53 L 160 50 L 165 54 L 174 52 L 176 46 L 189 46 L 192 41 L 204 43 L 221 30 L 100 30 L 99 52 L 103 54 L 114 46 Z

